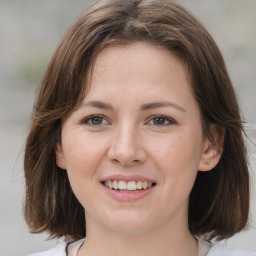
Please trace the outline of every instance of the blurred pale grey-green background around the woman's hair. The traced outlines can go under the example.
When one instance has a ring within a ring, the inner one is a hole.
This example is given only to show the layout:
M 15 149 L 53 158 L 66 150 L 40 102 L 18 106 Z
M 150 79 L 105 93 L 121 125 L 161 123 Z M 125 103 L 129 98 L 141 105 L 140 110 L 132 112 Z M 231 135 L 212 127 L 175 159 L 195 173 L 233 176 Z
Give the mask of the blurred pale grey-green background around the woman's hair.
M 23 151 L 38 86 L 60 38 L 90 0 L 0 0 L 0 256 L 42 251 L 58 241 L 23 220 Z M 243 109 L 252 176 L 250 227 L 224 241 L 256 251 L 256 1 L 178 0 L 219 45 Z

